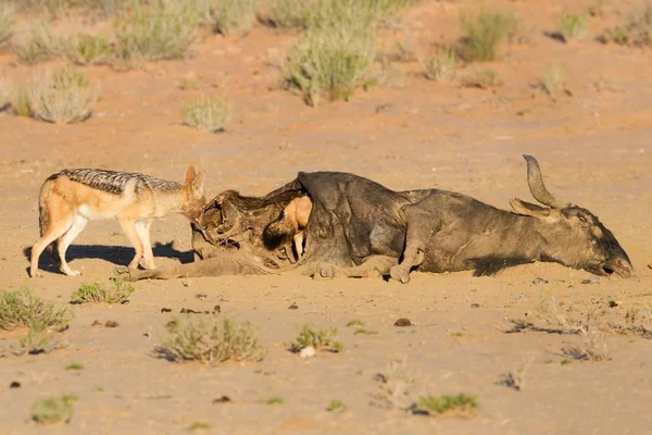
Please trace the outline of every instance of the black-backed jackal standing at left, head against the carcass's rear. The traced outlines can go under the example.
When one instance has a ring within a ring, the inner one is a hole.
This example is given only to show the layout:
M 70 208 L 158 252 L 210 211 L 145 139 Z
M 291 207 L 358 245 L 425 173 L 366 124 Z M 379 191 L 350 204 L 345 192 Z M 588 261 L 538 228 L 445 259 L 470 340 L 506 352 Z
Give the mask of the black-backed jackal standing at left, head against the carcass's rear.
M 32 277 L 41 276 L 38 259 L 47 250 L 61 271 L 70 276 L 65 251 L 82 233 L 88 221 L 117 219 L 136 248 L 129 268 L 154 269 L 150 243 L 152 221 L 172 213 L 181 213 L 200 227 L 203 223 L 204 172 L 196 174 L 188 167 L 186 183 L 167 182 L 149 175 L 104 170 L 63 170 L 43 183 L 39 200 L 41 238 L 32 248 Z

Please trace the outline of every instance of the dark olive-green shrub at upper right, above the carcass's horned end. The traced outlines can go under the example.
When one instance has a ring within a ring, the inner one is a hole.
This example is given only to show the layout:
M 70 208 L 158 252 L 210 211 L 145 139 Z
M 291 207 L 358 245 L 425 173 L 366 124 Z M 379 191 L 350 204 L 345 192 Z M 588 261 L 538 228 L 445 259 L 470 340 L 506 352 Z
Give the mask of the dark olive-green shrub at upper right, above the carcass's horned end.
M 460 55 L 467 62 L 492 61 L 498 47 L 516 26 L 516 16 L 511 12 L 481 11 L 478 15 L 462 15 L 465 36 Z

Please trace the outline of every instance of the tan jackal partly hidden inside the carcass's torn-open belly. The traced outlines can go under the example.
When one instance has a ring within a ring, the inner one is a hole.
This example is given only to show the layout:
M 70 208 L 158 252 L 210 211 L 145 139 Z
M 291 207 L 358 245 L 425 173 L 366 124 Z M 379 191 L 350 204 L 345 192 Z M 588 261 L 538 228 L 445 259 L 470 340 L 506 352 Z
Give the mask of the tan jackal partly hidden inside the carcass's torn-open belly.
M 294 241 L 298 260 L 303 257 L 303 229 L 308 225 L 312 201 L 309 196 L 292 199 L 280 212 L 278 219 L 267 225 L 263 232 L 265 246 L 275 249 L 290 238 Z M 286 246 L 286 254 L 294 260 L 290 246 Z

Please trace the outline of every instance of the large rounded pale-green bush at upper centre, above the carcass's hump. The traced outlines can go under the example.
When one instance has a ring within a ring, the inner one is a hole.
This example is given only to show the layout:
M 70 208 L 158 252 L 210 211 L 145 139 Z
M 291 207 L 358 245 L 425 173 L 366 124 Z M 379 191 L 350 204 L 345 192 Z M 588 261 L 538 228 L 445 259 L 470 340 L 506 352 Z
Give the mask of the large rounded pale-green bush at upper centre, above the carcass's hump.
M 316 105 L 321 96 L 348 100 L 364 80 L 374 61 L 371 28 L 309 32 L 292 49 L 287 85 Z

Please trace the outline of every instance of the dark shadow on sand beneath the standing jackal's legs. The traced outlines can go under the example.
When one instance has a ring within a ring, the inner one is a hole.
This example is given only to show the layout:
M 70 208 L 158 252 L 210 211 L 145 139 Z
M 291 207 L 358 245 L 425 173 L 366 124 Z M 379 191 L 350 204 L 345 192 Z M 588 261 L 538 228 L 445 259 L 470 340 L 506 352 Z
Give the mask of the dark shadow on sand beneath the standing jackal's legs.
M 179 251 L 172 247 L 173 243 L 167 244 L 156 243 L 152 247 L 154 260 L 160 257 L 174 258 L 181 263 L 191 263 L 195 260 L 192 250 Z M 27 260 L 32 257 L 32 247 L 23 249 L 23 254 Z M 111 245 L 73 245 L 71 246 L 65 258 L 67 261 L 77 259 L 100 259 L 116 265 L 126 265 L 134 258 L 134 248 L 127 246 L 111 246 Z M 41 270 L 58 273 L 59 264 L 55 264 L 48 254 L 43 254 L 39 261 Z

